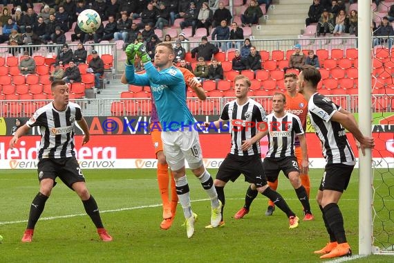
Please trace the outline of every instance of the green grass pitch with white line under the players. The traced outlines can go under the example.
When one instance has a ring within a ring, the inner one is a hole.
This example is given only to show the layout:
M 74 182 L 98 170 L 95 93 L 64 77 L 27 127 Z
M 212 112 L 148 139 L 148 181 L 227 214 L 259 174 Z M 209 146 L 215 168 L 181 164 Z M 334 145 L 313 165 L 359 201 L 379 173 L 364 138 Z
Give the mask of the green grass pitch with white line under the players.
M 209 170 L 212 176 L 216 170 Z M 243 176 L 225 188 L 225 226 L 205 229 L 210 202 L 198 179 L 187 172 L 192 208 L 198 214 L 194 237 L 187 239 L 182 209 L 169 230 L 160 229 L 162 209 L 156 170 L 84 170 L 113 242 L 101 242 L 77 194 L 61 181 L 53 189 L 38 221 L 33 242 L 22 244 L 30 203 L 39 190 L 35 170 L 0 171 L 0 262 L 321 262 L 313 251 L 328 242 L 315 201 L 322 170 L 311 170 L 311 206 L 315 221 L 300 221 L 288 229 L 281 210 L 264 215 L 262 195 L 244 219 L 233 218 L 243 206 L 247 183 Z M 279 192 L 302 219 L 301 203 L 282 175 Z M 348 242 L 358 253 L 358 176 L 355 170 L 339 206 Z M 352 262 L 390 262 L 392 257 L 370 256 Z

